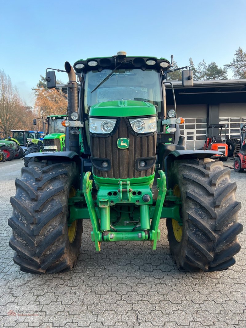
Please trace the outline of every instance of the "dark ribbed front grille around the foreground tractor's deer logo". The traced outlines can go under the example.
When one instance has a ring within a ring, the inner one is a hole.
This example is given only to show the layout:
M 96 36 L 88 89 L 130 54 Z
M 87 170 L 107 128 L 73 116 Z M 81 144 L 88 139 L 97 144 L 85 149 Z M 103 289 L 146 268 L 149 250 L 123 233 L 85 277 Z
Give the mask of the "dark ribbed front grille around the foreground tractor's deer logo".
M 128 138 L 128 149 L 117 148 L 118 138 Z M 118 130 L 109 137 L 90 135 L 91 154 L 95 158 L 108 158 L 111 161 L 110 171 L 100 171 L 93 166 L 95 175 L 104 178 L 130 179 L 154 174 L 154 165 L 148 170 L 138 171 L 136 161 L 138 158 L 155 156 L 156 134 L 137 136 L 130 133 L 124 118 L 121 119 Z

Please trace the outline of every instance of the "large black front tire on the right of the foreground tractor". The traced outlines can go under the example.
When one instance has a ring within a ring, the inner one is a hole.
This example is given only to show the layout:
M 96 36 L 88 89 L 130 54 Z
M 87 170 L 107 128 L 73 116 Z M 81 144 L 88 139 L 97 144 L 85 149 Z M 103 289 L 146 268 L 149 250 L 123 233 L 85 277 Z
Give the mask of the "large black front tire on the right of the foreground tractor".
M 230 170 L 210 158 L 180 160 L 172 163 L 169 180 L 171 187 L 179 189 L 182 201 L 179 242 L 173 219 L 166 223 L 177 267 L 188 271 L 228 269 L 240 250 L 237 235 L 242 231 L 238 222 L 241 203 L 235 200 L 236 183 L 230 181 Z

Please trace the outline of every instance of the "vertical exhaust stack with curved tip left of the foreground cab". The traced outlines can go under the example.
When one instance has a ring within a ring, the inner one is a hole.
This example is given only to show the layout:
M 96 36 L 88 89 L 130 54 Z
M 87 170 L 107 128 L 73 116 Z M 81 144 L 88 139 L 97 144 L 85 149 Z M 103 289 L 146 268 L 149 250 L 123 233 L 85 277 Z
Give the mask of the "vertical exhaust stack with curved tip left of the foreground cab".
M 71 120 L 71 113 L 78 113 L 78 84 L 76 82 L 76 75 L 69 64 L 65 63 L 65 71 L 68 73 L 68 120 Z M 73 128 L 68 128 L 68 138 L 69 138 L 69 151 L 80 154 L 79 148 L 79 134 L 73 133 Z

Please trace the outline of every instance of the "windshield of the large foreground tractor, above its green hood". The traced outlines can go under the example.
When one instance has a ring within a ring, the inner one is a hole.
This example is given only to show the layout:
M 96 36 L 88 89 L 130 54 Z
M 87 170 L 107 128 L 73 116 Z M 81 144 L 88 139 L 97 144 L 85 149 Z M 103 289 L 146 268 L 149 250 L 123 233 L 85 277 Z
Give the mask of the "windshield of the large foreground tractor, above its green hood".
M 92 105 L 121 99 L 147 101 L 155 105 L 157 112 L 161 111 L 162 84 L 157 70 L 119 68 L 111 73 L 110 69 L 85 73 L 85 114 L 89 114 Z

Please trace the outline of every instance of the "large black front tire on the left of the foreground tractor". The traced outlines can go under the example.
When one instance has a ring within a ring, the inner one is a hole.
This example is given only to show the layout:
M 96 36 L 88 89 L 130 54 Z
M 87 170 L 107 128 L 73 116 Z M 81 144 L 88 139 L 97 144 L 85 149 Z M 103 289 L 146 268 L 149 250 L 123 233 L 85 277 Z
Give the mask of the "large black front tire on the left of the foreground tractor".
M 13 260 L 21 271 L 56 273 L 76 264 L 82 220 L 74 221 L 74 238 L 69 240 L 68 199 L 77 181 L 74 162 L 33 162 L 22 168 L 22 178 L 15 180 L 16 195 L 10 198 L 13 215 L 8 220 Z

